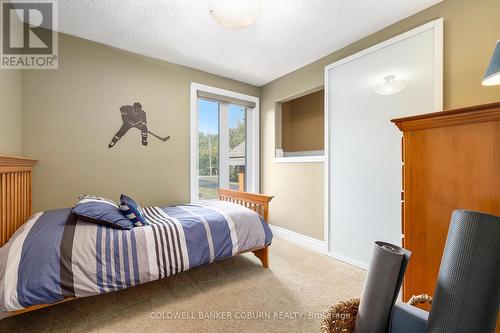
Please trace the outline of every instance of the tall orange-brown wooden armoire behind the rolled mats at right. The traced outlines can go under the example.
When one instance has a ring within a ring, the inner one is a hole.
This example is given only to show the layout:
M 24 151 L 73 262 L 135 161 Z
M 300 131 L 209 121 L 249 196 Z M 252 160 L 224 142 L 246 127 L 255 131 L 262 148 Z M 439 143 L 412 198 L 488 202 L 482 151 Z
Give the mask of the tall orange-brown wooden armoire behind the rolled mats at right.
M 403 299 L 432 295 L 451 213 L 500 215 L 500 102 L 392 120 L 403 132 Z

